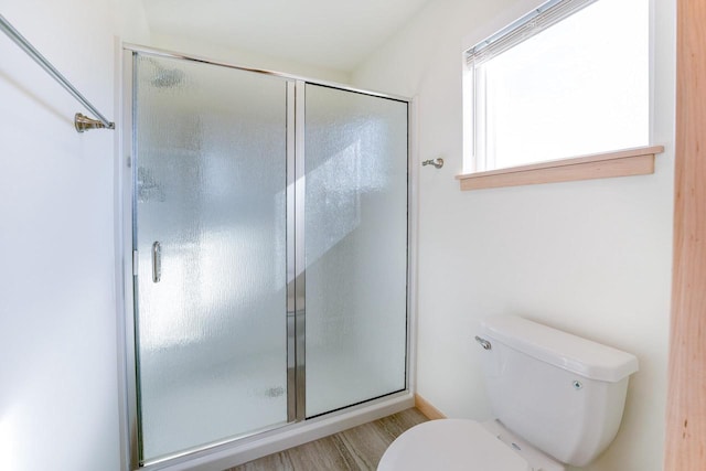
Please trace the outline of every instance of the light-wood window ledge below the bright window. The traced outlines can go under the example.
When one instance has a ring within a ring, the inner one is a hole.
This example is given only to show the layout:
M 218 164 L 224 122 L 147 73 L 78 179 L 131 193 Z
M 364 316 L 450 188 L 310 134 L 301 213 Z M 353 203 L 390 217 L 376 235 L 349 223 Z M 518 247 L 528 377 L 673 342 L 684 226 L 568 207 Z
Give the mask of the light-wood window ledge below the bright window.
M 466 173 L 456 178 L 461 183 L 461 191 L 468 191 L 608 179 L 612 176 L 646 175 L 654 173 L 654 156 L 662 152 L 664 152 L 664 146 L 638 147 L 616 152 L 593 153 L 573 159 L 511 167 L 509 169 Z

